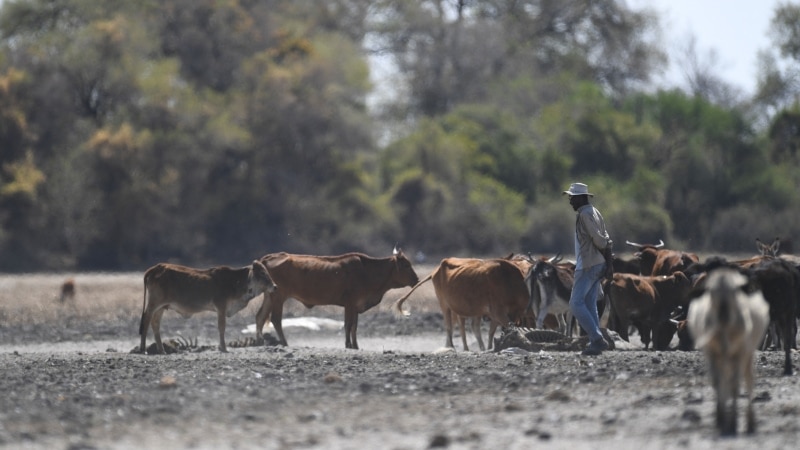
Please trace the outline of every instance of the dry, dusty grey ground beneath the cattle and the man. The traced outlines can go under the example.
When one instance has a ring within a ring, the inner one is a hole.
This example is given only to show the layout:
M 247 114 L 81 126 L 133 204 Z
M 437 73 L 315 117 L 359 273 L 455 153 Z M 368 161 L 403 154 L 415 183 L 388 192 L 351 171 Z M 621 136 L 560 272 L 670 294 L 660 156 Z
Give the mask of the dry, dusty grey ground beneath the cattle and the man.
M 62 305 L 68 276 L 77 295 Z M 599 357 L 442 352 L 441 314 L 423 289 L 406 303 L 409 318 L 389 310 L 403 290 L 363 314 L 361 350 L 345 350 L 338 328 L 287 328 L 289 347 L 222 354 L 207 349 L 212 314 L 167 313 L 162 335 L 200 348 L 132 354 L 141 283 L 141 274 L 0 276 L 0 447 L 771 449 L 800 436 L 798 377 L 781 375 L 780 352 L 757 356 L 758 433 L 722 439 L 698 352 L 635 341 Z M 242 330 L 259 303 L 229 322 L 229 344 L 251 336 Z M 290 302 L 286 316 L 342 311 Z

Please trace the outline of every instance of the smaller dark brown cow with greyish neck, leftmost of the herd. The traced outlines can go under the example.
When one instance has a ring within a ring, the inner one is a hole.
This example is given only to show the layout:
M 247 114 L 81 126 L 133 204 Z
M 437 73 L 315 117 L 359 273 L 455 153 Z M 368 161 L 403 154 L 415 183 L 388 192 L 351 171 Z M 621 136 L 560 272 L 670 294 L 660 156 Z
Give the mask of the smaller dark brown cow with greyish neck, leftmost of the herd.
M 161 343 L 161 316 L 173 309 L 189 317 L 201 311 L 216 311 L 219 328 L 219 350 L 225 346 L 225 317 L 244 309 L 262 292 L 275 290 L 266 267 L 253 261 L 249 267 L 233 269 L 226 266 L 193 269 L 177 264 L 160 263 L 144 274 L 144 302 L 139 335 L 139 350 L 145 353 L 147 327 L 152 325 L 158 352 L 164 354 Z M 148 295 L 149 294 L 149 295 Z

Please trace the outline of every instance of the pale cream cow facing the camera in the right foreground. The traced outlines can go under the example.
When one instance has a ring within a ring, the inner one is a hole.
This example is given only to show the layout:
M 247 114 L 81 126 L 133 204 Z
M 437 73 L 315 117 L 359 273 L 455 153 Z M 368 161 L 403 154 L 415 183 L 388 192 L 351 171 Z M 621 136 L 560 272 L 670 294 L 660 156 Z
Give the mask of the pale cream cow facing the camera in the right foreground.
M 747 389 L 747 432 L 756 430 L 753 355 L 769 324 L 769 306 L 761 292 L 745 292 L 747 284 L 747 277 L 736 270 L 715 270 L 706 280 L 706 293 L 689 306 L 688 328 L 708 360 L 717 394 L 717 428 L 723 435 L 736 434 L 736 397 L 742 376 Z

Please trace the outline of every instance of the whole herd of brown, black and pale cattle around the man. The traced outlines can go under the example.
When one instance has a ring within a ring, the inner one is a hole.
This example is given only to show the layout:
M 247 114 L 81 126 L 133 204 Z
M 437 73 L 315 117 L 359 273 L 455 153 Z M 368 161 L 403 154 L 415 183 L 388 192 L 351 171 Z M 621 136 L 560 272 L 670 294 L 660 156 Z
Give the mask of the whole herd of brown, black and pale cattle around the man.
M 663 241 L 627 244 L 636 249 L 635 257 L 615 257 L 614 276 L 603 281 L 604 294 L 598 299 L 601 324 L 625 340 L 629 329 L 635 328 L 645 349 L 652 343 L 656 350 L 668 350 L 676 333 L 679 349 L 703 348 L 718 394 L 717 425 L 723 433 L 735 433 L 730 403 L 735 411 L 736 395 L 731 392 L 738 389 L 742 376 L 752 391 L 753 351 L 782 347 L 783 373 L 793 372 L 791 350 L 796 348 L 800 313 L 800 268 L 778 256 L 778 239 L 772 245 L 757 239 L 759 254 L 739 261 L 710 257 L 700 262 L 695 254 L 663 248 Z M 489 347 L 497 327 L 508 324 L 554 328 L 572 336 L 579 332 L 569 309 L 574 271 L 575 264 L 562 261 L 560 256 L 511 254 L 495 259 L 445 258 L 419 280 L 409 259 L 397 249 L 388 258 L 361 253 L 274 253 L 239 269 L 201 270 L 161 263 L 144 275 L 140 351 L 145 352 L 151 327 L 157 350 L 164 353 L 159 329 L 167 309 L 184 316 L 215 311 L 219 349 L 226 351 L 226 317 L 262 293 L 263 303 L 256 314 L 257 338 L 263 337 L 263 327 L 269 320 L 280 343 L 288 345 L 281 321 L 283 305 L 292 298 L 309 308 L 344 307 L 345 347 L 357 349 L 359 314 L 380 303 L 389 290 L 411 287 L 392 305 L 395 312 L 407 315 L 403 303 L 428 281 L 432 281 L 441 307 L 448 347 L 454 347 L 453 325 L 458 323 L 463 348 L 468 350 L 467 320 L 481 350 L 485 346 L 480 325 L 487 319 Z M 757 306 L 759 300 L 764 308 Z M 754 429 L 753 423 L 748 406 L 749 431 Z

